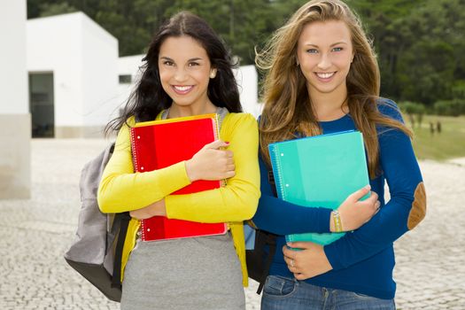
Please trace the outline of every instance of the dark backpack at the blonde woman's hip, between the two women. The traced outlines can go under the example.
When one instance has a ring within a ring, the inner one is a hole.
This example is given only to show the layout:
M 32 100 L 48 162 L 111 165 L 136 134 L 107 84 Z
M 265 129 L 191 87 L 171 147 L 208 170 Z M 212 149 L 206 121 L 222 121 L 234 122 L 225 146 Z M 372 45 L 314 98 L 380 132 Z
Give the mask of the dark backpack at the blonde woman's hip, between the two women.
M 273 194 L 277 197 L 273 171 L 268 170 L 268 181 L 272 185 Z M 249 277 L 259 284 L 257 294 L 260 295 L 267 280 L 269 268 L 276 252 L 276 236 L 273 233 L 258 229 L 252 220 L 244 221 L 245 240 L 252 239 L 253 246 L 246 246 L 245 260 Z M 268 251 L 266 250 L 268 249 Z

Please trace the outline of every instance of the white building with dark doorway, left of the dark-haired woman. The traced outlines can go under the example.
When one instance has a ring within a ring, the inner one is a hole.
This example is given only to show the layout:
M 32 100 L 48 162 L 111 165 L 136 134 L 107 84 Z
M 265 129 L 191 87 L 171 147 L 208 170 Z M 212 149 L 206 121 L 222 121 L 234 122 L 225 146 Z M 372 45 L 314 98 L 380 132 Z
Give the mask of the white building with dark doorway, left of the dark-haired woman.
M 33 136 L 102 136 L 117 66 L 118 40 L 84 13 L 27 20 Z

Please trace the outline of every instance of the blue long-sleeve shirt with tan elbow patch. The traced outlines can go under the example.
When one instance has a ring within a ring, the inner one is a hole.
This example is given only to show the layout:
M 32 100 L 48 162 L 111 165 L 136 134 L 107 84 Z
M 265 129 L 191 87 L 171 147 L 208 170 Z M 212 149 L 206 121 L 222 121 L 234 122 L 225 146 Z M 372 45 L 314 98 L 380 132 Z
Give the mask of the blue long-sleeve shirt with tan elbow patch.
M 383 99 L 378 109 L 392 119 L 403 121 L 391 100 Z M 355 129 L 350 114 L 341 119 L 320 122 L 323 134 Z M 392 279 L 395 264 L 393 242 L 422 221 L 426 198 L 422 174 L 412 144 L 399 129 L 377 128 L 380 170 L 370 180 L 371 190 L 381 202 L 381 209 L 365 225 L 347 233 L 324 252 L 333 269 L 307 279 L 306 283 L 345 291 L 355 291 L 376 298 L 394 298 L 396 283 Z M 278 236 L 270 275 L 292 278 L 283 260 L 284 235 L 306 232 L 329 232 L 330 209 L 304 207 L 285 202 L 273 195 L 267 166 L 260 158 L 261 198 L 253 223 Z M 384 202 L 384 181 L 391 199 Z

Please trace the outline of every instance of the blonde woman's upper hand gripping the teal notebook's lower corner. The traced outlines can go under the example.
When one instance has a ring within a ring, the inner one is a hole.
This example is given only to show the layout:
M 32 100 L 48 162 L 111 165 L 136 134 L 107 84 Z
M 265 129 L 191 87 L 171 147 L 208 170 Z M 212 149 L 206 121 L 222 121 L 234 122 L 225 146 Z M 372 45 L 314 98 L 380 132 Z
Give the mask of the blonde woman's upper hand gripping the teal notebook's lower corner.
M 360 228 L 361 225 L 369 221 L 373 215 L 379 210 L 380 202 L 378 201 L 378 195 L 372 191 L 369 198 L 360 200 L 368 194 L 370 186 L 362 188 L 353 192 L 347 197 L 342 205 L 339 205 L 337 211 L 342 223 L 343 231 L 351 231 Z M 334 232 L 334 213 L 331 213 L 329 217 L 329 229 Z

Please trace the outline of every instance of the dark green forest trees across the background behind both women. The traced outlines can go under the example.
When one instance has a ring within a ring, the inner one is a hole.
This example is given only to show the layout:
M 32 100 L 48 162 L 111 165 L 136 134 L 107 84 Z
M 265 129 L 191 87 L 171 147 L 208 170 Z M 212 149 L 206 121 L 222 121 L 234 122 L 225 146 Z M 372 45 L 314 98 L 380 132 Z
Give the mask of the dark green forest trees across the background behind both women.
M 465 0 L 346 0 L 373 40 L 381 95 L 421 102 L 465 98 Z M 85 12 L 120 42 L 120 56 L 143 53 L 151 35 L 175 12 L 204 18 L 228 43 L 241 65 L 253 64 L 254 47 L 306 0 L 27 0 L 28 18 Z M 449 111 L 439 104 L 440 111 Z M 455 105 L 455 104 L 454 104 Z M 459 109 L 460 110 L 460 109 Z M 456 111 L 456 110 L 454 110 Z M 461 110 L 460 110 L 461 111 Z

